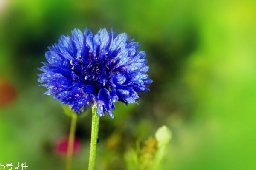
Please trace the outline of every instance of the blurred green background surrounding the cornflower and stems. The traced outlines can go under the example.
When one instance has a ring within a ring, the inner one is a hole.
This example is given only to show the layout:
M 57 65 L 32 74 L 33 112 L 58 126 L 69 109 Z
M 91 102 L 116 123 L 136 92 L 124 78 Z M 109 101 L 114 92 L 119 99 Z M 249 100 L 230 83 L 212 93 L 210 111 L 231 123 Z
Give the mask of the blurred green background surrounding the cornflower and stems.
M 70 118 L 36 74 L 47 46 L 85 27 L 134 37 L 154 81 L 140 106 L 118 104 L 115 119 L 101 119 L 97 170 L 125 170 L 125 153 L 162 125 L 172 130 L 165 170 L 256 169 L 253 0 L 0 0 L 0 82 L 15 92 L 0 106 L 0 162 L 64 169 L 55 145 Z M 90 122 L 78 121 L 74 170 L 87 169 Z

